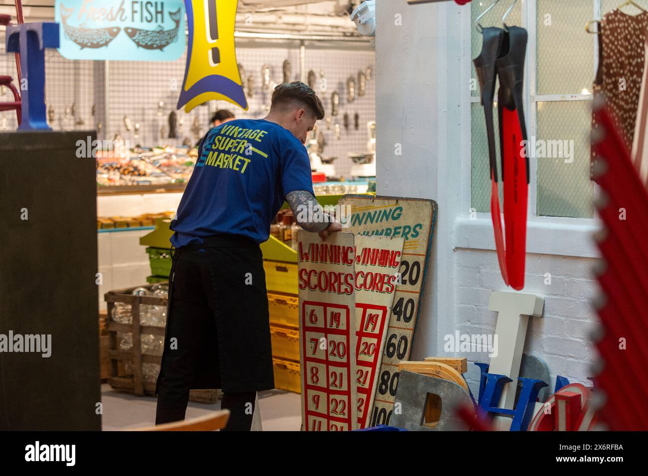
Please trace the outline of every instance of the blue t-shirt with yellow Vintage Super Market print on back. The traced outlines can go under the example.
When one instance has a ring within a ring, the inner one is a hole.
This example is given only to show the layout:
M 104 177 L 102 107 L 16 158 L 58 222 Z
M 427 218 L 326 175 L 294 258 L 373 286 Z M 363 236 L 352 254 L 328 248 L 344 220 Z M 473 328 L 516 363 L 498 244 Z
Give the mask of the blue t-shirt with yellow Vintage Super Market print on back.
M 270 223 L 294 190 L 313 192 L 305 146 L 290 131 L 264 119 L 230 120 L 198 146 L 171 244 L 201 244 L 214 234 L 268 240 Z

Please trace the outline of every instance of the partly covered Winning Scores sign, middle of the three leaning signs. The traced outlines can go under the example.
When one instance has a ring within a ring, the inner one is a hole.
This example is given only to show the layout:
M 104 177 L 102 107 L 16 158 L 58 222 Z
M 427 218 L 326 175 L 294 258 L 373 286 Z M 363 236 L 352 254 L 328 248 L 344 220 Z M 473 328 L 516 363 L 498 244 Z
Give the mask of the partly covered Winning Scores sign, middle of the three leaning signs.
M 404 240 L 356 235 L 356 385 L 358 427 L 373 408 Z

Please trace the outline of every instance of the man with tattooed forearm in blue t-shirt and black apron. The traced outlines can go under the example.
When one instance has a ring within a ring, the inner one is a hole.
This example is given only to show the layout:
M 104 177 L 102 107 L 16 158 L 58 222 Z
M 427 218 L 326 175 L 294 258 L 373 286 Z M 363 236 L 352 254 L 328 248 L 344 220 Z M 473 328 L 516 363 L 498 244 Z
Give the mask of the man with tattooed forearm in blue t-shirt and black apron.
M 189 389 L 222 389 L 226 429 L 249 430 L 256 392 L 274 388 L 259 244 L 284 201 L 322 239 L 340 231 L 323 214 L 304 146 L 324 108 L 308 85 L 281 84 L 265 119 L 230 120 L 200 141 L 171 222 L 176 247 L 157 380 L 156 424 L 185 418 Z

